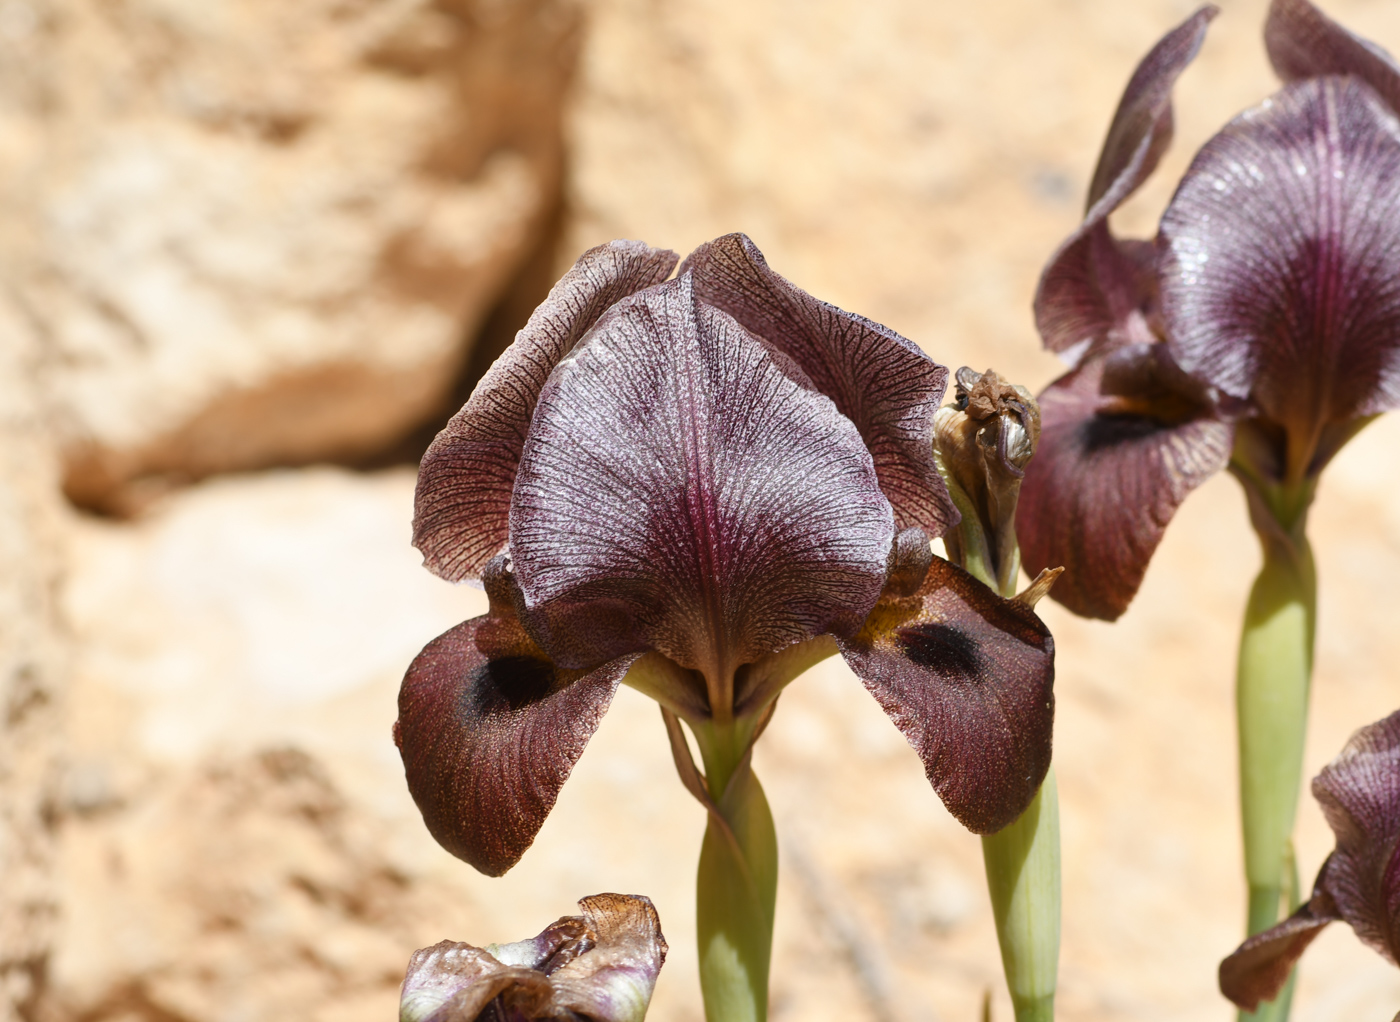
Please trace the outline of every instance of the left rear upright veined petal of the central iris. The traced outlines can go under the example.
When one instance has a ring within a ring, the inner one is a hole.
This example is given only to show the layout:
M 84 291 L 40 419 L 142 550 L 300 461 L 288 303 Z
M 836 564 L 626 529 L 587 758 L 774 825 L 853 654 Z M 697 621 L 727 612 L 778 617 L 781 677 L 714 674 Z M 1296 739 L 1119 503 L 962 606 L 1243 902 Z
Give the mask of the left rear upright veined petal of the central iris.
M 559 360 L 620 298 L 666 279 L 676 253 L 615 241 L 580 256 L 487 370 L 419 466 L 413 545 L 454 582 L 505 545 L 511 486 L 535 402 Z

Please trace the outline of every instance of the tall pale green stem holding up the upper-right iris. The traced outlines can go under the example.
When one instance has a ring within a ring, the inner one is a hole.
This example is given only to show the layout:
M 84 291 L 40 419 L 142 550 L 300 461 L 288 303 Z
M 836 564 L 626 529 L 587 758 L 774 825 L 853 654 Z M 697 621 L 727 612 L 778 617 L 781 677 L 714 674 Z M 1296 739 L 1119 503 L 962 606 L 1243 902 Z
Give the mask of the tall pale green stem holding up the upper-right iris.
M 1249 594 L 1239 643 L 1240 822 L 1249 882 L 1247 932 L 1278 923 L 1298 899 L 1294 818 L 1302 784 L 1308 692 L 1317 622 L 1317 571 L 1305 535 L 1312 484 L 1261 486 L 1240 472 L 1264 566 Z M 1289 988 L 1240 1019 L 1288 1018 Z

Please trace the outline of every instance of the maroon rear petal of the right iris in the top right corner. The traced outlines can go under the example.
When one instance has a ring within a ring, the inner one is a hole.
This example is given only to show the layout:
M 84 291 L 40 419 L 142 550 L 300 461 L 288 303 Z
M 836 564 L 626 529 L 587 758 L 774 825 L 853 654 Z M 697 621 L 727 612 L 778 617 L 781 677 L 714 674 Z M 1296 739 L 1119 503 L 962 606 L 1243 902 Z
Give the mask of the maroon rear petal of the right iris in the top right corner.
M 1351 74 L 1400 112 L 1400 64 L 1369 39 L 1352 35 L 1308 0 L 1274 0 L 1264 46 L 1284 81 Z

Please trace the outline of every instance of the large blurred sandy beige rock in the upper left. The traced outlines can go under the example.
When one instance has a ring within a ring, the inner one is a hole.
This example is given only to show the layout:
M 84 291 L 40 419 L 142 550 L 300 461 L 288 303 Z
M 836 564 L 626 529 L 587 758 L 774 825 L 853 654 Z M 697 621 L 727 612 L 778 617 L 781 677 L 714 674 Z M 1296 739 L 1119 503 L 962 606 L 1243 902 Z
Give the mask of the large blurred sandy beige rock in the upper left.
M 66 487 L 353 456 L 451 388 L 557 203 L 573 0 L 7 0 L 14 281 Z

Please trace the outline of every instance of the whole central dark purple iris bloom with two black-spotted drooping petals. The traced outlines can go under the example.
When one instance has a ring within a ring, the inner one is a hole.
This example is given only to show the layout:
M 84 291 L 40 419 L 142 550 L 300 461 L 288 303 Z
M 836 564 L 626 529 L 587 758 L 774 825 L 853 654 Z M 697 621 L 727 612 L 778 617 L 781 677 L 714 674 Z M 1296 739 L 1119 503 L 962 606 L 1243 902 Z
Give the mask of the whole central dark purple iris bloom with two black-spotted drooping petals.
M 743 235 L 675 263 L 587 252 L 423 459 L 414 545 L 490 596 L 399 696 L 428 829 L 500 875 L 619 683 L 728 727 L 839 650 L 952 813 L 998 830 L 1050 762 L 1053 644 L 931 557 L 956 522 L 930 445 L 946 370 Z

